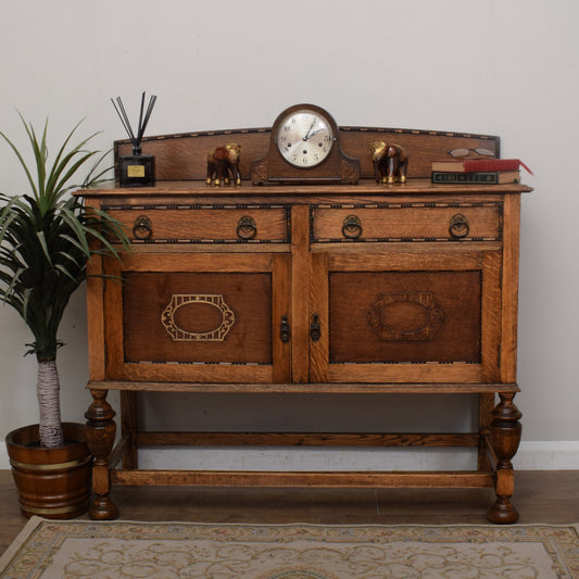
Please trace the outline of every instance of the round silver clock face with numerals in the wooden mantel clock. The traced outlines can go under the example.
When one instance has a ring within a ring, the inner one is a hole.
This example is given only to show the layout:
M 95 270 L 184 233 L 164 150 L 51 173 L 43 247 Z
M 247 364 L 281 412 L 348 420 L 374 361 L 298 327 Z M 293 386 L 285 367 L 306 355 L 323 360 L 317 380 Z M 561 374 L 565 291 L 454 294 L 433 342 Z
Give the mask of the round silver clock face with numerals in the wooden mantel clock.
M 307 109 L 294 111 L 284 118 L 276 135 L 281 156 L 302 168 L 319 165 L 329 155 L 335 140 L 329 121 Z

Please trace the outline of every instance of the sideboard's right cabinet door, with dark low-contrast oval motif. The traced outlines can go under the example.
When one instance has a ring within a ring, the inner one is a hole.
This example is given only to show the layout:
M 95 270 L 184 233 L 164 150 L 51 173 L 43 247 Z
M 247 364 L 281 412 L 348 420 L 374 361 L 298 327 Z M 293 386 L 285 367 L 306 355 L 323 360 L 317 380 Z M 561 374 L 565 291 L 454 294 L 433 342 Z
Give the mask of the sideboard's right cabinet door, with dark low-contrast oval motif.
M 314 253 L 311 379 L 499 379 L 499 250 Z

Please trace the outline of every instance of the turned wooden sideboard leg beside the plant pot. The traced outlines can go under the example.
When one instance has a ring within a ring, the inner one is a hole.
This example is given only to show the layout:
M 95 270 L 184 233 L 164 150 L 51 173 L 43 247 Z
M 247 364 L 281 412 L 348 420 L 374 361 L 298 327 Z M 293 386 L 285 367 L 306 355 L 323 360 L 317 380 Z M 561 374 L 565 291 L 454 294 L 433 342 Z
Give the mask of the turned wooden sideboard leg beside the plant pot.
M 106 402 L 106 390 L 91 390 L 93 402 L 85 413 L 87 418 L 87 442 L 95 456 L 92 462 L 92 491 L 95 499 L 89 515 L 97 520 L 111 520 L 118 516 L 118 509 L 111 501 L 111 476 L 109 454 L 113 449 L 116 425 L 115 412 Z

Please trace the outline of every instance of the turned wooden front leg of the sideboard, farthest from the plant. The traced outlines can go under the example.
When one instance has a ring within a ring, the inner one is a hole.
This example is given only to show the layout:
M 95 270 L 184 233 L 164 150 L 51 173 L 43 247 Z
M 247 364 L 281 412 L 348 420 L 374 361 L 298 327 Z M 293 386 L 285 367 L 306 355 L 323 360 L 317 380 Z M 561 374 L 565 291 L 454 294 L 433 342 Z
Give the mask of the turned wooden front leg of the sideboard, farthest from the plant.
M 511 503 L 515 490 L 515 474 L 511 460 L 520 442 L 523 416 L 513 404 L 515 394 L 499 394 L 501 401 L 492 413 L 491 440 L 496 455 L 496 502 L 489 511 L 489 520 L 508 525 L 518 520 L 517 509 Z

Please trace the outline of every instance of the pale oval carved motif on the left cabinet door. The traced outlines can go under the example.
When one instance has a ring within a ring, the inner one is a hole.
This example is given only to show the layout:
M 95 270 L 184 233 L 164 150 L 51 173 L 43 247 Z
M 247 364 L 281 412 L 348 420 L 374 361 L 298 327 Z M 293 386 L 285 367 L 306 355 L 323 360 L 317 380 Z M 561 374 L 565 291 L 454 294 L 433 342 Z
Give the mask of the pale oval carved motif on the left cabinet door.
M 202 304 L 213 306 L 221 313 L 221 324 L 216 328 L 209 331 L 196 332 L 177 325 L 175 322 L 175 314 L 179 309 Z M 225 303 L 221 293 L 174 293 L 169 303 L 161 314 L 161 323 L 173 341 L 221 342 L 234 326 L 235 319 L 236 316 L 232 310 Z

